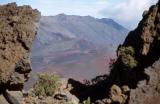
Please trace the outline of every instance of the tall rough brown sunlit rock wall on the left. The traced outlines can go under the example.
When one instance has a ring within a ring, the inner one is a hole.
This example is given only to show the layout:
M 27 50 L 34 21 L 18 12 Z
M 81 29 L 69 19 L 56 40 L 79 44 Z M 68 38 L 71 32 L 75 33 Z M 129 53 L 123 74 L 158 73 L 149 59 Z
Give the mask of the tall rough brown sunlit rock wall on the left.
M 0 5 L 0 92 L 21 90 L 31 71 L 29 52 L 40 13 L 16 3 Z

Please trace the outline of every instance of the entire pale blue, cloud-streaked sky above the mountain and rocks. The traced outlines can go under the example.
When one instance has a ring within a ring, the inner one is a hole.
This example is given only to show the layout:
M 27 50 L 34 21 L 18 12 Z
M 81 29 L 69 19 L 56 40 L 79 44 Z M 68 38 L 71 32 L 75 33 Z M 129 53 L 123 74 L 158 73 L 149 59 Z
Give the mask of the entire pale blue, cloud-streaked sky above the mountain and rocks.
M 111 18 L 122 26 L 132 30 L 142 18 L 144 10 L 156 4 L 158 0 L 0 0 L 0 4 L 16 2 L 18 5 L 31 5 L 42 15 L 93 16 Z

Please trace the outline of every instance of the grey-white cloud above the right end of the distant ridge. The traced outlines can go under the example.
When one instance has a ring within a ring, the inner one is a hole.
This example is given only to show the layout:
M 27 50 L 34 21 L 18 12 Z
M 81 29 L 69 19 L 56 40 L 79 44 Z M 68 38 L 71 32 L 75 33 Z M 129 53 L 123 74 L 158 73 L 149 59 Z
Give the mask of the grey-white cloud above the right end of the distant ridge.
M 136 27 L 138 21 L 142 18 L 142 13 L 150 5 L 155 4 L 158 0 L 125 0 L 119 3 L 112 3 L 99 13 L 104 17 L 113 18 L 120 24 L 129 29 Z

